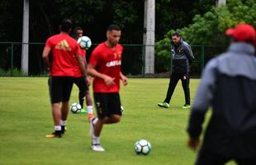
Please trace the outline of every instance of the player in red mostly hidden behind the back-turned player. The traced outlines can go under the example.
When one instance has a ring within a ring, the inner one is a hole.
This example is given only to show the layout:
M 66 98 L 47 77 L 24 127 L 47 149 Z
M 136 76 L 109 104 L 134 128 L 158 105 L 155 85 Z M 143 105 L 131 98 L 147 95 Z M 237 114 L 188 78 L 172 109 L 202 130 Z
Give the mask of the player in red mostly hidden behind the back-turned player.
M 83 36 L 83 28 L 80 26 L 76 26 L 73 29 L 73 38 L 75 40 L 78 40 L 79 37 Z M 81 53 L 83 55 L 83 60 L 84 63 L 87 64 L 86 62 L 86 51 L 81 49 Z M 78 94 L 78 99 L 79 99 L 79 104 L 82 106 L 83 108 L 83 101 L 85 98 L 86 101 L 86 105 L 87 105 L 87 112 L 88 112 L 88 119 L 92 119 L 93 115 L 92 115 L 92 97 L 90 95 L 89 92 L 89 87 L 88 85 L 90 85 L 91 82 L 91 78 L 87 77 L 87 81 L 88 84 L 84 84 L 84 79 L 82 77 L 82 73 L 80 71 L 80 68 L 78 66 L 78 64 L 75 64 L 75 78 L 74 78 L 74 83 L 77 85 L 78 89 L 79 89 L 79 94 Z M 84 109 L 81 110 L 81 112 L 85 111 Z

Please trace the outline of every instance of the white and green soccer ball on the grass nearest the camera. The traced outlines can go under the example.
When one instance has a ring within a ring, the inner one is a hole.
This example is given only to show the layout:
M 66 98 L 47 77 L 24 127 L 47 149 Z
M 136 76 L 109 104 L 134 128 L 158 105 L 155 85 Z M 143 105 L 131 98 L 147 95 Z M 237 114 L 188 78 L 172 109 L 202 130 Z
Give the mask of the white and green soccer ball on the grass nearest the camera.
M 147 155 L 151 151 L 151 144 L 146 139 L 140 139 L 135 143 L 135 153 L 139 155 Z

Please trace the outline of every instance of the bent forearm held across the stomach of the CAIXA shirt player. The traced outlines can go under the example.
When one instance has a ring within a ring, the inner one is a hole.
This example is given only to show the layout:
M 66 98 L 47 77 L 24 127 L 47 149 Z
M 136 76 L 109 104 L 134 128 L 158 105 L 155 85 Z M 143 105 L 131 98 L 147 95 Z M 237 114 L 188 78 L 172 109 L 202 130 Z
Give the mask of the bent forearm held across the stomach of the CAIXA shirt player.
M 115 78 L 111 78 L 106 74 L 97 72 L 97 70 L 95 69 L 94 66 L 92 66 L 92 64 L 88 64 L 88 74 L 94 78 L 102 78 L 107 86 L 111 86 L 115 84 L 114 82 Z

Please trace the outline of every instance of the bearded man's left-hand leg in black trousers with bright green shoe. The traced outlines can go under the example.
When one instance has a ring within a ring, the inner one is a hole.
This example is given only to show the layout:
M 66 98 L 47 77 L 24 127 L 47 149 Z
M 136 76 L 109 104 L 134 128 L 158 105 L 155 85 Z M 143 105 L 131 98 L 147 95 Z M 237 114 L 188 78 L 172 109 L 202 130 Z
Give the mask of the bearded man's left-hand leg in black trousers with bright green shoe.
M 169 107 L 169 102 L 171 101 L 171 98 L 173 96 L 173 92 L 178 83 L 178 80 L 179 80 L 178 73 L 172 73 L 169 84 L 168 84 L 166 97 L 163 102 L 159 102 L 158 106 L 165 107 L 165 108 Z

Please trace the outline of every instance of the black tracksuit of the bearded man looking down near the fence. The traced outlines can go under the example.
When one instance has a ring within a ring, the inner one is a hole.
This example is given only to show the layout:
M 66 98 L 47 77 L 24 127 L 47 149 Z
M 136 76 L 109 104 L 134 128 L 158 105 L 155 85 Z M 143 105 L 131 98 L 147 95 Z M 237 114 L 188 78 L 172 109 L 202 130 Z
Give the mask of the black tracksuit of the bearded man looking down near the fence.
M 173 68 L 168 84 L 168 92 L 164 101 L 170 102 L 178 80 L 181 79 L 185 95 L 185 104 L 190 105 L 189 64 L 192 62 L 192 59 L 194 59 L 191 47 L 187 42 L 181 40 L 178 45 L 172 44 L 171 50 L 173 54 Z

